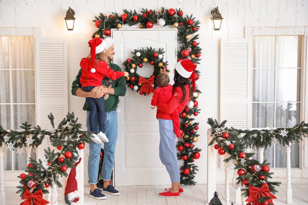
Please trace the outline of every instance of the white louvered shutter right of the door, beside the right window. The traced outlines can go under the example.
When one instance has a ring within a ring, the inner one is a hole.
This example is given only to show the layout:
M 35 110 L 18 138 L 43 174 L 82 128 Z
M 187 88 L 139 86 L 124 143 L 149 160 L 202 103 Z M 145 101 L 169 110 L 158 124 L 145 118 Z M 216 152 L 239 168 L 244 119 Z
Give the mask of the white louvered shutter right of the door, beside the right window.
M 221 38 L 220 120 L 227 127 L 251 128 L 251 46 L 250 38 Z

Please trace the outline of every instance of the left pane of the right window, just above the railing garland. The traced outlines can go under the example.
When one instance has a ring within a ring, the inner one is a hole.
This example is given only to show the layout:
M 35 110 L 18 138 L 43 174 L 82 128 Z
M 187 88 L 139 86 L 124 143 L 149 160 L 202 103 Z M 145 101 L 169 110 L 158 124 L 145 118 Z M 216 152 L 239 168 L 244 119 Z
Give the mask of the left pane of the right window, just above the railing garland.
M 274 127 L 274 103 L 252 104 L 252 127 Z

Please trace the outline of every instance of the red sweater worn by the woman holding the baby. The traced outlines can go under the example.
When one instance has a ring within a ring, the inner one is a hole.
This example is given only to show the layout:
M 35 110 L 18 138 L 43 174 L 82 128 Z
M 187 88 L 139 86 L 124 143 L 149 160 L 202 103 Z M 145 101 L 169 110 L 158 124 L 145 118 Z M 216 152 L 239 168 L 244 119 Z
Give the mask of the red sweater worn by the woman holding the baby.
M 186 89 L 186 96 L 184 99 L 184 102 L 180 103 L 180 99 L 183 97 L 183 93 L 180 87 L 177 87 L 173 91 L 173 96 L 168 102 L 168 104 L 164 104 L 161 102 L 157 102 L 156 105 L 160 109 L 160 113 L 158 118 L 164 119 L 164 120 L 172 120 L 170 113 L 172 113 L 175 109 L 177 110 L 177 113 L 181 113 L 185 106 L 187 105 L 188 99 L 189 99 L 189 86 L 185 85 Z

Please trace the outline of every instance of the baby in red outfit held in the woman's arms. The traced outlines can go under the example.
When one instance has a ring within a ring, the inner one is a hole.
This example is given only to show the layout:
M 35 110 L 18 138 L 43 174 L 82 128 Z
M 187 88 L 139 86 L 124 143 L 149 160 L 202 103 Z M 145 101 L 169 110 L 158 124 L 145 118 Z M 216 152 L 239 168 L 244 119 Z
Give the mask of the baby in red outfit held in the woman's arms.
M 154 109 L 155 105 L 157 102 L 165 103 L 167 104 L 171 97 L 173 96 L 172 94 L 172 85 L 169 84 L 169 77 L 165 73 L 160 73 L 157 78 L 156 78 L 157 84 L 159 88 L 157 88 L 152 97 L 151 101 L 151 108 Z M 158 114 L 160 112 L 160 109 L 157 108 L 156 111 L 156 118 L 158 120 Z M 173 121 L 173 127 L 174 127 L 174 132 L 176 134 L 177 138 L 181 138 L 180 136 L 180 117 L 179 113 L 177 113 L 177 110 L 175 109 L 171 114 L 171 118 Z

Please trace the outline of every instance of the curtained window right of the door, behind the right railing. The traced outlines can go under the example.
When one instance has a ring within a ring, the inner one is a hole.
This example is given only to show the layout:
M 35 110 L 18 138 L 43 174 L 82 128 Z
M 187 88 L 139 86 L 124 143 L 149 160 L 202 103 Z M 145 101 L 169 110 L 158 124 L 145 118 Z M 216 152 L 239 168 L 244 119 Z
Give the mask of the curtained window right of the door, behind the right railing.
M 253 49 L 252 127 L 293 127 L 300 120 L 301 36 L 254 36 Z M 294 143 L 291 167 L 299 167 Z M 286 147 L 275 146 L 264 150 L 264 159 L 286 167 Z

